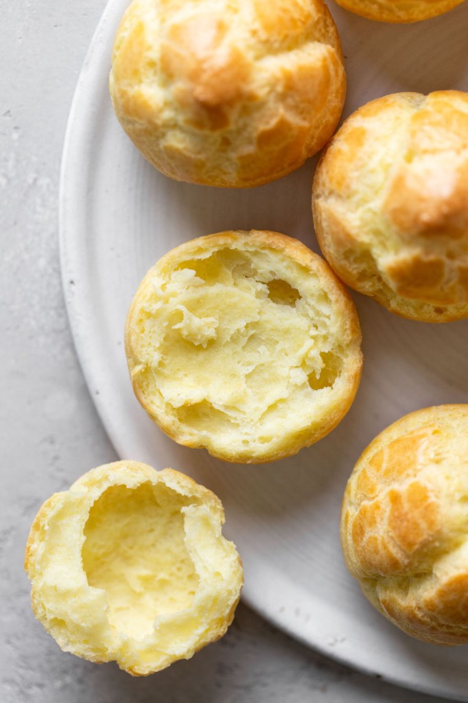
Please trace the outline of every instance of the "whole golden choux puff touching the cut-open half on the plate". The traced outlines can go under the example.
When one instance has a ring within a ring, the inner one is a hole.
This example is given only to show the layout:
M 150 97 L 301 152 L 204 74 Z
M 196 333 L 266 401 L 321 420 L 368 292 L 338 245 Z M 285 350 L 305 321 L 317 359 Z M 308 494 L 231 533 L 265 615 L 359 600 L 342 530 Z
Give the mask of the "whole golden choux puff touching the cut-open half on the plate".
M 332 269 L 412 320 L 468 317 L 468 93 L 396 93 L 349 117 L 313 181 Z

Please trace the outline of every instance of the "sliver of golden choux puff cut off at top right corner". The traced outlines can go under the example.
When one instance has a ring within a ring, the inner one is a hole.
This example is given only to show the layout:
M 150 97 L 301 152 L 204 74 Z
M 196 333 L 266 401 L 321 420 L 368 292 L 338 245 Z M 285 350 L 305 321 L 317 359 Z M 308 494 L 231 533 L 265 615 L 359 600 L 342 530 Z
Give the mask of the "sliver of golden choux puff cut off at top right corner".
M 337 0 L 346 10 L 377 22 L 419 22 L 452 10 L 463 0 Z

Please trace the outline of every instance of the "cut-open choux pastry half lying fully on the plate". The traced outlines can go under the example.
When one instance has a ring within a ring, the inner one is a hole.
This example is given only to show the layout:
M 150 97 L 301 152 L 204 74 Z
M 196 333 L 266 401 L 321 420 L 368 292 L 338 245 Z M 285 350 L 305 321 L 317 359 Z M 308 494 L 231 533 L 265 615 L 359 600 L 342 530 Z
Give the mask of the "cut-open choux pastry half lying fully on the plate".
M 297 453 L 349 410 L 356 309 L 327 264 L 267 231 L 200 237 L 143 279 L 126 321 L 138 400 L 179 444 L 230 462 Z

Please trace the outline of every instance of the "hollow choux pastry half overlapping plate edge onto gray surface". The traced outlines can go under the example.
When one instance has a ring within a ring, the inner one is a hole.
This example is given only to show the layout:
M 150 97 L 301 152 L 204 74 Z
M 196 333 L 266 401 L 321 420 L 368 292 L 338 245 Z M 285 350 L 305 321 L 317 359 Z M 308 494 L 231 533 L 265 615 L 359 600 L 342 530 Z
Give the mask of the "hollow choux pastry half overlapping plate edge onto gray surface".
M 27 541 L 32 610 L 65 652 L 134 676 L 226 633 L 243 582 L 223 507 L 186 475 L 117 461 L 40 508 Z

